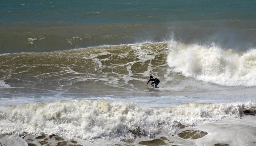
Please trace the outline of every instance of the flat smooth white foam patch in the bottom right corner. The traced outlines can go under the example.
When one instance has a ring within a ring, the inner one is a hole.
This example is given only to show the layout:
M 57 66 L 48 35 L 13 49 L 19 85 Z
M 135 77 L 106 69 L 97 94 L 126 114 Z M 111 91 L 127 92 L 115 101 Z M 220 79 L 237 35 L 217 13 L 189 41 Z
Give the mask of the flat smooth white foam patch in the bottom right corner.
M 207 131 L 208 135 L 196 140 L 198 146 L 229 144 L 235 145 L 255 145 L 255 116 L 245 116 L 243 118 L 227 118 L 217 122 L 205 122 L 194 127 Z

